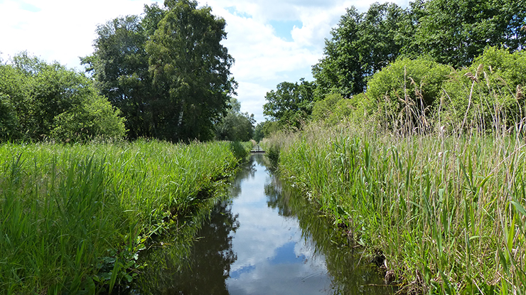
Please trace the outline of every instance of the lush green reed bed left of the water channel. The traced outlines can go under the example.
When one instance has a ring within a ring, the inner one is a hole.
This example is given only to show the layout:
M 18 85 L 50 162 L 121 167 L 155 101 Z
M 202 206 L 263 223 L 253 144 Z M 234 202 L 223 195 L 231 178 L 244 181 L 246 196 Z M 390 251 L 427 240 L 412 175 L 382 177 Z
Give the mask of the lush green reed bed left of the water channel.
M 236 163 L 226 142 L 0 146 L 0 294 L 111 293 Z

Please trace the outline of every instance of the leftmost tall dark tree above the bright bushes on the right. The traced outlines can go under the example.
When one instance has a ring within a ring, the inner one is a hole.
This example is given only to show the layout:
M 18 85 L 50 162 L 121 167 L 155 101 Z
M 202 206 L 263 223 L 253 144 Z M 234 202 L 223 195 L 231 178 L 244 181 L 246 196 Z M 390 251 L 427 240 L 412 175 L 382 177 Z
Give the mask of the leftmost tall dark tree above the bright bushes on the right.
M 324 57 L 313 66 L 317 97 L 336 92 L 343 97 L 361 93 L 367 77 L 399 55 L 407 41 L 408 12 L 396 4 L 372 4 L 365 14 L 347 9 L 326 40 Z

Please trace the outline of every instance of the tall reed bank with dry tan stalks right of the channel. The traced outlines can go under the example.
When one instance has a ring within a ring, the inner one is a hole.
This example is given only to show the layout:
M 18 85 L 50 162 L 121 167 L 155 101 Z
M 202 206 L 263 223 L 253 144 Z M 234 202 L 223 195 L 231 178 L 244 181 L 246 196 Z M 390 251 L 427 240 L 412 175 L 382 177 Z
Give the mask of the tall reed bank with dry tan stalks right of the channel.
M 412 294 L 524 294 L 526 149 L 515 136 L 275 134 L 279 170 Z M 378 262 L 378 259 L 376 259 Z

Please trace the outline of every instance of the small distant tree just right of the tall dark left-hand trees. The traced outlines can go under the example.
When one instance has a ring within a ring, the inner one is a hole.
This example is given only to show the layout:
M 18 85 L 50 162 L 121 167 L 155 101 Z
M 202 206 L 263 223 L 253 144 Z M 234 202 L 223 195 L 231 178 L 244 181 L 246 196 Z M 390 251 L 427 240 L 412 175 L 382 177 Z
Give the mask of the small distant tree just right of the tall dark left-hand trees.
M 241 104 L 232 97 L 227 115 L 216 126 L 218 140 L 249 141 L 254 136 L 254 114 L 241 112 Z

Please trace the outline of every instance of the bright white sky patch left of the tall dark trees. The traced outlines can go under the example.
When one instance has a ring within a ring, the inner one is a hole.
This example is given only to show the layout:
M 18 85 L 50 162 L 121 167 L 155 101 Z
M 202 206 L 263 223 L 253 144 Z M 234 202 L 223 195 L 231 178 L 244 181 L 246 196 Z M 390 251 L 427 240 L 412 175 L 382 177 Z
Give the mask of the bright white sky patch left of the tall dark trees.
M 41 58 L 79 68 L 79 57 L 93 52 L 97 25 L 129 14 L 144 4 L 129 0 L 4 0 L 0 2 L 0 51 L 27 50 Z M 5 57 L 4 57 L 5 58 Z

